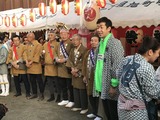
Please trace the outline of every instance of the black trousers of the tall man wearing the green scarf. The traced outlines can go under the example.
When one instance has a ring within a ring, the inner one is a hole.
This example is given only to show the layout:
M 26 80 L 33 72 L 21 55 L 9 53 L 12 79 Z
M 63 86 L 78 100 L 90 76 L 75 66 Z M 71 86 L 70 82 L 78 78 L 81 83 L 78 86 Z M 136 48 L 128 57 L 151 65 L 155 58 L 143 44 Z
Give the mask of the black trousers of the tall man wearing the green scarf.
M 117 101 L 106 99 L 102 103 L 108 120 L 118 120 Z

